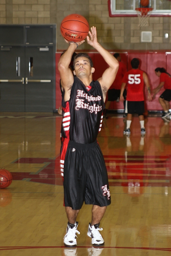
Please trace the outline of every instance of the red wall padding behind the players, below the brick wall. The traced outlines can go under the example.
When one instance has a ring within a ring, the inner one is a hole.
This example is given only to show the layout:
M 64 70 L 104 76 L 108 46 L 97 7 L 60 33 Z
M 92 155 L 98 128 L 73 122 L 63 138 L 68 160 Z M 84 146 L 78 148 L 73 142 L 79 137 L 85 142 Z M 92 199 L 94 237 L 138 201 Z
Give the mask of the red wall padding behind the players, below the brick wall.
M 111 52 L 114 54 L 114 52 Z M 122 62 L 125 63 L 128 70 L 132 69 L 130 61 L 133 58 L 138 58 L 140 60 L 140 69 L 147 73 L 148 79 L 150 81 L 151 91 L 159 84 L 159 77 L 155 75 L 156 67 L 164 67 L 168 73 L 171 74 L 171 54 L 166 53 L 165 51 L 160 52 L 147 52 L 147 51 L 130 51 L 130 52 L 119 52 L 121 54 Z M 98 52 L 88 52 L 92 61 L 94 63 L 95 72 L 93 74 L 93 80 L 99 79 L 102 76 L 104 70 L 108 67 L 107 63 L 101 57 Z M 61 105 L 61 92 L 59 87 L 60 74 L 57 68 L 61 52 L 56 52 L 56 109 Z M 162 110 L 161 105 L 159 104 L 158 98 L 159 95 L 164 91 L 162 88 L 161 91 L 155 96 L 151 101 L 147 101 L 147 88 L 144 88 L 145 95 L 145 109 L 151 111 L 160 111 Z M 122 102 L 111 102 L 110 109 L 123 109 Z

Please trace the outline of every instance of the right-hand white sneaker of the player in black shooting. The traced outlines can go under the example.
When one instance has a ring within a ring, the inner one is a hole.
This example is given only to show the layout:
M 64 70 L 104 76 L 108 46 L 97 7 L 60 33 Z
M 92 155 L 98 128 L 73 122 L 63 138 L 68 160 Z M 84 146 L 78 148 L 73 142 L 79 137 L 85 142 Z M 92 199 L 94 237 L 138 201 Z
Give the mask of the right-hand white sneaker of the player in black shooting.
M 99 227 L 99 224 L 92 225 L 89 223 L 88 228 L 88 236 L 92 237 L 92 244 L 93 246 L 103 246 L 104 245 L 104 239 L 101 236 L 99 230 L 103 230 L 101 227 Z

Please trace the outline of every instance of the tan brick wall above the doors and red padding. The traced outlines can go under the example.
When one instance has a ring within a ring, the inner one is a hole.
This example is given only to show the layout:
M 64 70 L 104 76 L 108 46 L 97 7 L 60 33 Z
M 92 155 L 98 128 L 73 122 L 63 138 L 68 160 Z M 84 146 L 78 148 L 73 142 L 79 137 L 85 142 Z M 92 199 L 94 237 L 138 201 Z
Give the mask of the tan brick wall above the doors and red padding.
M 1 24 L 57 24 L 57 49 L 66 49 L 60 23 L 71 13 L 79 13 L 97 27 L 99 42 L 107 49 L 169 49 L 171 17 L 151 17 L 141 29 L 138 17 L 109 17 L 108 0 L 0 0 Z M 141 31 L 152 31 L 152 42 L 140 42 Z M 168 33 L 169 38 L 164 38 Z M 80 49 L 89 49 L 84 44 Z

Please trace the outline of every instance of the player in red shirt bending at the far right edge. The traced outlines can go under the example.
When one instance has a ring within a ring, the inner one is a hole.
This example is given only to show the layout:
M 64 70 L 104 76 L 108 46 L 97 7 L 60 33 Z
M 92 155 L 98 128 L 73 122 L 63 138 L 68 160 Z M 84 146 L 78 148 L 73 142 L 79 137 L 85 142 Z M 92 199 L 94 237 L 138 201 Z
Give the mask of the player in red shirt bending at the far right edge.
M 152 91 L 154 93 L 153 97 L 161 90 L 162 87 L 165 88 L 165 91 L 159 97 L 159 103 L 164 110 L 162 118 L 170 117 L 171 112 L 169 112 L 169 101 L 171 100 L 171 76 L 163 67 L 157 67 L 157 69 L 155 69 L 155 74 L 160 78 L 160 83 L 158 87 Z

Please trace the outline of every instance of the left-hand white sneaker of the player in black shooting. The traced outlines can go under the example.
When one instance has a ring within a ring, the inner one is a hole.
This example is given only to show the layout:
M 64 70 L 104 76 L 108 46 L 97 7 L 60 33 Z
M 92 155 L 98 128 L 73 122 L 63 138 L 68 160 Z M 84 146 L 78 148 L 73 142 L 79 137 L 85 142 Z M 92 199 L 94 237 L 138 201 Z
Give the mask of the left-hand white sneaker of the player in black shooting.
M 77 246 L 76 233 L 80 234 L 79 231 L 77 230 L 77 227 L 78 227 L 78 222 L 76 222 L 75 224 L 70 224 L 68 222 L 67 233 L 64 236 L 64 246 L 67 246 L 67 247 Z

